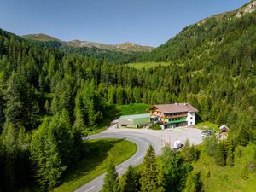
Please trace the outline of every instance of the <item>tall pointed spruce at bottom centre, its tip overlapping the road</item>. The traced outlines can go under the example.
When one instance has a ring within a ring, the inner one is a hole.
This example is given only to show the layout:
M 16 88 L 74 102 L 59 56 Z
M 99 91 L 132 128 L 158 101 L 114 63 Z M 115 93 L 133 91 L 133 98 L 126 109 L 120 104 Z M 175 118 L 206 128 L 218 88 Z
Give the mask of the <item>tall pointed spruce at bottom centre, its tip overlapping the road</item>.
M 160 171 L 155 161 L 155 152 L 149 146 L 143 161 L 143 171 L 140 178 L 142 192 L 164 191 L 163 181 L 160 182 Z

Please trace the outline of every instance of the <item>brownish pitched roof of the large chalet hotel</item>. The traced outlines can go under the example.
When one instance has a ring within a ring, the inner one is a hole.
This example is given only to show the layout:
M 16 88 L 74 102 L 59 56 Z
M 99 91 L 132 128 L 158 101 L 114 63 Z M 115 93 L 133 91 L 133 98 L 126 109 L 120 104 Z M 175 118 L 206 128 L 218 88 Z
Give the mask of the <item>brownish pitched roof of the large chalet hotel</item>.
M 187 102 L 173 103 L 173 104 L 161 104 L 151 106 L 150 109 L 159 109 L 161 113 L 181 113 L 181 112 L 198 112 L 196 108 Z

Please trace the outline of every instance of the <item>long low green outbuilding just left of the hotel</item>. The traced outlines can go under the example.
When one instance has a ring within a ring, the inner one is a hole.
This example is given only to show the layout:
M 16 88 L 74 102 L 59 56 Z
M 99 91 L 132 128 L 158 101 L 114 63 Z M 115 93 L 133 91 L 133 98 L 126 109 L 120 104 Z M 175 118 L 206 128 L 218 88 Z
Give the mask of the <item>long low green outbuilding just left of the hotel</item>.
M 119 118 L 119 127 L 139 128 L 150 124 L 150 114 L 124 115 Z

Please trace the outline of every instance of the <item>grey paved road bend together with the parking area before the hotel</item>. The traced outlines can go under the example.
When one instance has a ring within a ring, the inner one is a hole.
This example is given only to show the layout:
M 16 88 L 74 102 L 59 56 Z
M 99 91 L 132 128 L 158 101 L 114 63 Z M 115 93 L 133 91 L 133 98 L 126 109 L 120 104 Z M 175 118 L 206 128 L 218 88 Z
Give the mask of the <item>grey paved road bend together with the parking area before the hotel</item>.
M 147 152 L 148 146 L 152 145 L 156 155 L 161 154 L 163 146 L 173 143 L 175 140 L 180 140 L 182 143 L 188 138 L 190 143 L 199 144 L 202 142 L 201 130 L 195 128 L 179 127 L 170 130 L 148 130 L 148 129 L 127 129 L 116 128 L 117 120 L 113 121 L 106 131 L 90 136 L 89 139 L 96 138 L 124 138 L 132 143 L 136 143 L 137 152 L 130 159 L 125 160 L 119 166 L 116 166 L 116 171 L 119 176 L 123 175 L 129 165 L 137 166 L 143 163 L 143 157 Z M 96 177 L 90 183 L 84 184 L 75 192 L 98 192 L 102 189 L 105 173 Z

